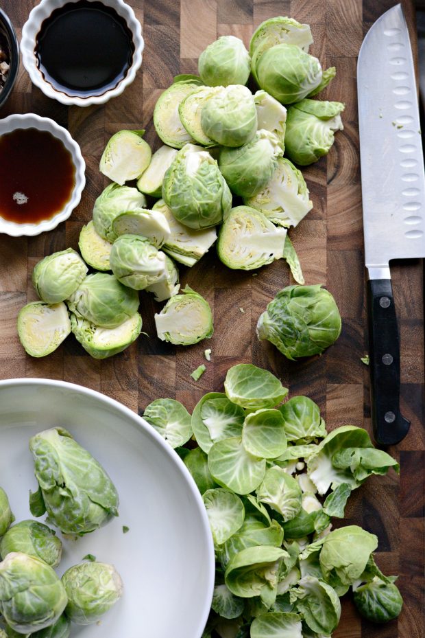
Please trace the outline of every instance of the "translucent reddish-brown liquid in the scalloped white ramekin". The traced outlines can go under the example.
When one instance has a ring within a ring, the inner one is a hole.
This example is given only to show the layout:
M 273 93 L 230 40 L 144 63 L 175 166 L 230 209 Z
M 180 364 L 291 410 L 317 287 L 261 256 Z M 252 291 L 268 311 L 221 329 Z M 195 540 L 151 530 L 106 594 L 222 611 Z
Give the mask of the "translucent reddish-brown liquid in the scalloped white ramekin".
M 34 224 L 60 212 L 75 185 L 71 154 L 47 130 L 0 136 L 0 217 Z

